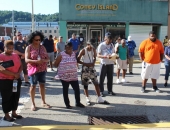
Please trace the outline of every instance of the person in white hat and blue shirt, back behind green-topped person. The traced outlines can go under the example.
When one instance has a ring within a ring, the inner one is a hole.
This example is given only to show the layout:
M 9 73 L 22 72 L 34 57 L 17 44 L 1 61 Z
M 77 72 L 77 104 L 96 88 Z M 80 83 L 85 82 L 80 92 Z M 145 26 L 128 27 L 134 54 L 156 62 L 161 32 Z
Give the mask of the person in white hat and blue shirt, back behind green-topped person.
M 128 40 L 126 40 L 126 46 L 128 47 L 129 54 L 129 74 L 133 74 L 133 60 L 134 60 L 134 50 L 136 48 L 136 43 L 132 40 L 131 36 L 128 36 Z

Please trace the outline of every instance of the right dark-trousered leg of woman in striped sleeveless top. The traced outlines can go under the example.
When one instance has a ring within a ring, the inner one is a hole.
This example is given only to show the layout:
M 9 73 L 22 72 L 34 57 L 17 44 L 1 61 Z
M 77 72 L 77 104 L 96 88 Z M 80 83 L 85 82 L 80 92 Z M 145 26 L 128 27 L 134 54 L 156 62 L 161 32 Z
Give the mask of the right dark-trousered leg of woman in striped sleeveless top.
M 76 105 L 80 104 L 80 88 L 79 88 L 78 80 L 77 81 L 70 81 L 70 84 L 71 84 L 71 86 L 74 90 Z

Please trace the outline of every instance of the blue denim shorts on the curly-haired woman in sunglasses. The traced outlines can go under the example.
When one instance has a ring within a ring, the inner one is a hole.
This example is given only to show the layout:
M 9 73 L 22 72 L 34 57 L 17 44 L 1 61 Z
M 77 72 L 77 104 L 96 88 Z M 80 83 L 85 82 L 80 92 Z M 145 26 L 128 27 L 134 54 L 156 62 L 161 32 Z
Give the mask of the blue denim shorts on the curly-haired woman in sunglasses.
M 37 82 L 39 82 L 39 84 L 45 84 L 46 81 L 46 72 L 38 72 L 34 75 L 30 76 L 30 83 L 32 86 L 36 86 Z

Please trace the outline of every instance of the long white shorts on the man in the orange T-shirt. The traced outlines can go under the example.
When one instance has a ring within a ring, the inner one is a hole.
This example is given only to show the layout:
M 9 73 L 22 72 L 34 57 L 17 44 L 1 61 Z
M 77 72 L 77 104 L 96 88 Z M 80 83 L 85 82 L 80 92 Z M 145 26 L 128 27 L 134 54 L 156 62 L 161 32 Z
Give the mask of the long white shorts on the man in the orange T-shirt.
M 149 64 L 143 61 L 142 72 L 141 72 L 142 80 L 149 79 L 149 78 L 158 79 L 160 76 L 160 68 L 161 68 L 161 63 Z

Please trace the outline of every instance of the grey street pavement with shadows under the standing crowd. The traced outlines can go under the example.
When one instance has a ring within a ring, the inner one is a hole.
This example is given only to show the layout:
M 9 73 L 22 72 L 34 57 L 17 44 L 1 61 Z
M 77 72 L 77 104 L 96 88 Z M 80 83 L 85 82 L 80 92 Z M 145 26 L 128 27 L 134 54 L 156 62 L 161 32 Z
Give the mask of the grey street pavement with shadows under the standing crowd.
M 96 65 L 97 72 L 99 72 L 99 65 Z M 115 68 L 116 70 L 116 68 Z M 92 106 L 87 106 L 86 108 L 77 108 L 74 107 L 74 91 L 70 87 L 69 98 L 70 105 L 73 106 L 73 109 L 66 109 L 63 101 L 62 95 L 62 86 L 60 81 L 53 80 L 55 75 L 54 72 L 48 71 L 47 73 L 47 84 L 46 84 L 46 102 L 52 106 L 51 109 L 46 109 L 41 106 L 41 98 L 38 92 L 38 87 L 36 90 L 35 102 L 38 107 L 37 111 L 31 111 L 31 101 L 29 99 L 28 90 L 29 87 L 22 86 L 22 99 L 20 100 L 20 110 L 18 112 L 24 117 L 22 120 L 16 120 L 12 125 L 21 125 L 21 126 L 37 126 L 35 130 L 41 130 L 41 125 L 52 125 L 49 126 L 48 130 L 52 130 L 51 127 L 57 129 L 60 125 L 69 127 L 66 125 L 88 125 L 88 115 L 108 115 L 108 116 L 132 116 L 132 115 L 146 115 L 151 123 L 162 123 L 170 122 L 170 89 L 169 87 L 164 88 L 164 65 L 161 66 L 161 77 L 158 80 L 158 87 L 162 91 L 161 93 L 156 93 L 152 91 L 151 81 L 148 80 L 146 87 L 147 92 L 141 93 L 141 64 L 134 64 L 134 75 L 127 74 L 126 80 L 129 83 L 126 84 L 115 84 L 116 76 L 114 74 L 114 84 L 113 91 L 116 93 L 116 96 L 106 96 L 105 100 L 109 101 L 110 105 L 96 104 L 96 94 L 94 91 L 94 86 L 89 85 L 89 94 L 93 102 Z M 80 81 L 80 73 L 79 73 Z M 80 82 L 81 83 L 81 82 Z M 106 87 L 107 80 L 105 79 L 105 94 L 107 94 Z M 85 96 L 83 94 L 83 86 L 80 84 L 80 93 L 81 93 L 81 102 L 85 104 Z M 24 99 L 24 100 L 23 100 Z M 1 106 L 0 106 L 1 109 Z M 0 117 L 3 117 L 2 110 L 0 111 Z M 0 121 L 2 122 L 2 121 Z M 55 126 L 54 126 L 55 125 Z M 56 126 L 59 125 L 59 126 Z M 150 129 L 153 127 L 154 130 L 157 130 L 156 124 L 150 124 L 152 127 L 147 127 L 138 125 L 138 127 L 133 127 L 135 125 L 130 124 L 129 129 L 133 128 L 147 128 Z M 148 124 L 149 125 L 149 124 Z M 124 126 L 124 125 L 119 125 Z M 158 127 L 158 128 L 163 128 Z M 98 126 L 90 126 L 90 130 Z M 103 126 L 102 126 L 103 127 Z M 115 125 L 113 126 L 115 128 Z M 168 126 L 170 129 L 170 126 Z M 26 128 L 26 127 L 23 127 Z M 27 127 L 28 128 L 28 127 Z M 47 127 L 44 127 L 47 128 Z M 61 128 L 61 127 L 60 127 Z M 70 127 L 71 129 L 71 127 Z M 78 129 L 78 128 L 77 128 Z M 86 129 L 86 128 L 85 128 Z M 111 129 L 111 126 L 108 128 Z M 116 129 L 116 128 L 115 128 Z M 126 129 L 126 128 L 122 128 Z M 1 129 L 0 129 L 1 130 Z M 6 130 L 3 128 L 3 130 Z M 10 128 L 10 130 L 12 130 Z M 19 129 L 17 129 L 19 130 Z M 27 129 L 28 130 L 28 129 Z M 32 129 L 29 129 L 32 130 Z M 96 128 L 96 130 L 100 130 Z

